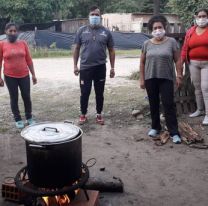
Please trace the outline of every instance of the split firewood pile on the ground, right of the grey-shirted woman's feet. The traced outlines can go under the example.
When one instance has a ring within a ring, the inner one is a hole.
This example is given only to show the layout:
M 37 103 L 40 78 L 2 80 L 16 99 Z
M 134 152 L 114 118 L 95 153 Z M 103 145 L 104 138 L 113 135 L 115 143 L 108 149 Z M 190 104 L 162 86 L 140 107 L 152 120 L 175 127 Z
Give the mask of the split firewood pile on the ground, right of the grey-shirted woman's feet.
M 204 141 L 204 139 L 195 132 L 188 123 L 180 122 L 178 126 L 182 141 L 186 144 L 190 145 L 193 143 L 202 143 Z

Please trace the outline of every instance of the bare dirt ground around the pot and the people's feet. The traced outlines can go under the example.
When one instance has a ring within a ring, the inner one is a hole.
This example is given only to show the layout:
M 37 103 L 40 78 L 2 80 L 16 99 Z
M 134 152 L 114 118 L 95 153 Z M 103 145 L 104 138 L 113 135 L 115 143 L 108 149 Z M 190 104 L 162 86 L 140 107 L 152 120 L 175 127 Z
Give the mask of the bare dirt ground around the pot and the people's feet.
M 34 60 L 38 84 L 32 87 L 33 113 L 38 122 L 71 120 L 79 115 L 79 84 L 70 58 Z M 95 123 L 94 92 L 90 97 L 89 122 L 82 126 L 83 162 L 96 158 L 91 177 L 115 176 L 124 183 L 124 193 L 100 194 L 101 206 L 206 206 L 208 205 L 208 150 L 171 141 L 156 146 L 146 135 L 150 127 L 145 91 L 127 76 L 137 70 L 138 58 L 117 58 L 116 77 L 107 78 L 105 125 Z M 108 70 L 109 74 L 109 70 Z M 92 90 L 93 91 L 93 90 Z M 23 111 L 22 101 L 20 108 Z M 15 129 L 6 88 L 0 88 L 0 182 L 14 177 L 26 165 L 24 140 Z M 132 109 L 140 109 L 139 119 Z M 188 121 L 208 142 L 203 117 Z M 100 168 L 105 168 L 103 172 Z M 5 202 L 1 206 L 16 205 Z

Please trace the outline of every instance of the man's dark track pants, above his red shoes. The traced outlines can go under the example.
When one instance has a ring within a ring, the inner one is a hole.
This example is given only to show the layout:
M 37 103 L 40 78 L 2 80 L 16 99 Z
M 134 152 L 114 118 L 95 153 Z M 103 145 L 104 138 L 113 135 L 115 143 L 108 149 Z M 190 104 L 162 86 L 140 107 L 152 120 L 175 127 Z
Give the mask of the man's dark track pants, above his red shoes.
M 105 78 L 105 64 L 94 66 L 89 69 L 80 70 L 80 105 L 82 114 L 87 113 L 88 101 L 92 88 L 92 81 L 94 82 L 96 110 L 98 114 L 101 114 L 104 102 Z

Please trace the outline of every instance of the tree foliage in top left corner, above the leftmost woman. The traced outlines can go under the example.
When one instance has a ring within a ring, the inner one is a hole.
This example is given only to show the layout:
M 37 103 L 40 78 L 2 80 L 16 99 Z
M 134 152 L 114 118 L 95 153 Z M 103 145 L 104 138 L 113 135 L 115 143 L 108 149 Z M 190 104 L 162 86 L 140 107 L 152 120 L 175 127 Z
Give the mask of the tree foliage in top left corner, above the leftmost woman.
M 70 12 L 72 0 L 0 0 L 0 14 L 3 18 L 18 23 L 41 23 L 62 18 Z

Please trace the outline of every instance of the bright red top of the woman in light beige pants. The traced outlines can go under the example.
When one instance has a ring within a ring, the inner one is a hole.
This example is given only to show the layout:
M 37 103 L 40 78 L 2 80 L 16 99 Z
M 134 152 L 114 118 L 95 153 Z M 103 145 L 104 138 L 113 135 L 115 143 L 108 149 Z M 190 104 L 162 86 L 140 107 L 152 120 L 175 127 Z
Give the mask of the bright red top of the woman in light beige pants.
M 208 61 L 208 29 L 200 35 L 195 31 L 188 46 L 191 60 Z

